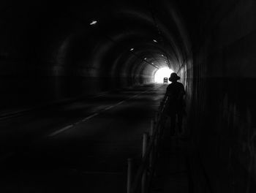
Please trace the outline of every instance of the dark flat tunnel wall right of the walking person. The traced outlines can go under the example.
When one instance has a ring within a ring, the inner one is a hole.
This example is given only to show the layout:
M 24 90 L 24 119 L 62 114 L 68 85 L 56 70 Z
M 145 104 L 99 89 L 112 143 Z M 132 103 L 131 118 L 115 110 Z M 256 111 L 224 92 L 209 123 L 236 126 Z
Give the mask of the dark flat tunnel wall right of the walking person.
M 256 4 L 201 3 L 189 124 L 204 177 L 195 188 L 255 192 Z

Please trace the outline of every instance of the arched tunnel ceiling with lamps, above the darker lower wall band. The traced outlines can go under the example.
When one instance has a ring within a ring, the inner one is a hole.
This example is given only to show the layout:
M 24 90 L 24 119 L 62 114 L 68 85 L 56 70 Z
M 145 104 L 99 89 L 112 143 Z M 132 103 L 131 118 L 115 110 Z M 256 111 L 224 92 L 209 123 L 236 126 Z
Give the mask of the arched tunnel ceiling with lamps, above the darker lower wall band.
M 168 65 L 178 70 L 190 45 L 177 7 L 167 0 L 5 1 L 1 57 L 24 61 L 18 73 L 135 77 Z

